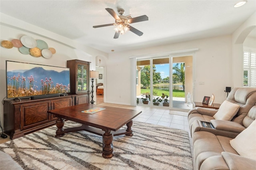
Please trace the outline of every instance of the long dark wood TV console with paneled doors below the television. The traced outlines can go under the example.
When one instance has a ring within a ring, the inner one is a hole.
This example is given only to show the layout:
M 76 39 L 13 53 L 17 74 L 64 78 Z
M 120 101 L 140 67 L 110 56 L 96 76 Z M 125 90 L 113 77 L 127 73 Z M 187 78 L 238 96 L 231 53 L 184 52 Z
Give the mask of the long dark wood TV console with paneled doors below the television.
M 15 139 L 55 125 L 57 118 L 47 111 L 88 103 L 89 94 L 21 101 L 4 100 L 4 133 L 10 139 Z

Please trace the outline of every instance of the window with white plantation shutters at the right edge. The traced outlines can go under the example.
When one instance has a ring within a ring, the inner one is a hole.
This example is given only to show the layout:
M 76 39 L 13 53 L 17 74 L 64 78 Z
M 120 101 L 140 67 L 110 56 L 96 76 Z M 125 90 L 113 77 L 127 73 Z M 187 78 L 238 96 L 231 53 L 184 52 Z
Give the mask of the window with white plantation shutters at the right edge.
M 256 49 L 244 48 L 244 87 L 256 87 Z

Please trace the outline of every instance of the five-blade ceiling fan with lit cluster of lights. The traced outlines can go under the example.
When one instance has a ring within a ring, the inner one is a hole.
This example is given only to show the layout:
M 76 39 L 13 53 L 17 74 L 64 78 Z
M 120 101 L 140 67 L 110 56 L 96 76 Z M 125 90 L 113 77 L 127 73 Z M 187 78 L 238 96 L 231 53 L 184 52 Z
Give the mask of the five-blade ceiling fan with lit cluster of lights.
M 143 16 L 138 16 L 135 18 L 132 18 L 131 15 L 123 16 L 123 14 L 124 14 L 123 9 L 118 10 L 118 14 L 119 14 L 119 16 L 118 16 L 113 9 L 110 9 L 110 8 L 105 8 L 105 9 L 110 13 L 110 15 L 112 15 L 115 18 L 116 22 L 113 24 L 104 24 L 104 25 L 99 25 L 99 26 L 93 26 L 93 28 L 116 26 L 116 28 L 114 29 L 116 31 L 116 33 L 114 35 L 115 39 L 118 38 L 120 34 L 125 34 L 129 30 L 138 36 L 142 36 L 143 32 L 137 30 L 136 28 L 133 28 L 132 26 L 130 26 L 130 24 L 135 23 L 135 22 L 148 21 L 148 16 L 143 15 Z

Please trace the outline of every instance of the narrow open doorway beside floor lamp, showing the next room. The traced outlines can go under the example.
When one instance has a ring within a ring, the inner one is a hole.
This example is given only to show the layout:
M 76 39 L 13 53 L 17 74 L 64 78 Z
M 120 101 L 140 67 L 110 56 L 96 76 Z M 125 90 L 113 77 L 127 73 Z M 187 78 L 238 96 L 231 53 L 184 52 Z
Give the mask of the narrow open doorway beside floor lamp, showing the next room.
M 104 67 L 96 65 L 96 71 L 99 72 L 99 78 L 96 79 L 96 105 L 104 103 Z

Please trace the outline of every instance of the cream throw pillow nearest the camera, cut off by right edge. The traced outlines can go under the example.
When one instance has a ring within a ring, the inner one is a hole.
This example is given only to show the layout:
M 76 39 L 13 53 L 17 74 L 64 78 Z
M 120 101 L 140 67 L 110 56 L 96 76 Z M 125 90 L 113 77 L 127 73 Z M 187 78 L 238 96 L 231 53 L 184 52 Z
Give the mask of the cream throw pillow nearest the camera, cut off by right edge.
M 230 140 L 230 145 L 241 156 L 256 160 L 256 120 L 244 129 L 236 138 Z

